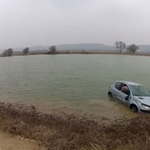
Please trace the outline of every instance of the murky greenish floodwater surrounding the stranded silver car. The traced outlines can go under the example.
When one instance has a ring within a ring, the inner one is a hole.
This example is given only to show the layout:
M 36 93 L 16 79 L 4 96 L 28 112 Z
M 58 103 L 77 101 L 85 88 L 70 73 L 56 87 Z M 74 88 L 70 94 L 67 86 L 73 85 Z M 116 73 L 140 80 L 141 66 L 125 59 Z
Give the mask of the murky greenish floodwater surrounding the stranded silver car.
M 0 58 L 0 100 L 97 116 L 133 115 L 110 100 L 108 87 L 129 80 L 150 89 L 150 57 L 125 55 L 38 55 Z

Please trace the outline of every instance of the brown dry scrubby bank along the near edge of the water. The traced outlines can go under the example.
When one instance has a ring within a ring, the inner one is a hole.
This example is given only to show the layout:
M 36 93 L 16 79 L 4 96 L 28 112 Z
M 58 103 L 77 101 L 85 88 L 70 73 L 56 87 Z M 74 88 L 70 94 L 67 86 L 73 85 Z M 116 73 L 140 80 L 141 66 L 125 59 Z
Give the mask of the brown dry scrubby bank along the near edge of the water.
M 93 117 L 45 114 L 34 106 L 0 103 L 4 132 L 34 139 L 48 150 L 148 150 L 150 117 L 95 121 Z

